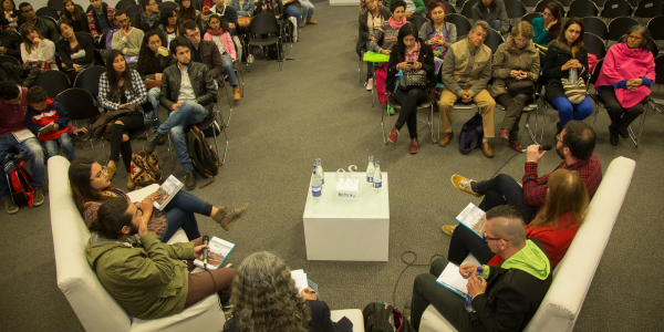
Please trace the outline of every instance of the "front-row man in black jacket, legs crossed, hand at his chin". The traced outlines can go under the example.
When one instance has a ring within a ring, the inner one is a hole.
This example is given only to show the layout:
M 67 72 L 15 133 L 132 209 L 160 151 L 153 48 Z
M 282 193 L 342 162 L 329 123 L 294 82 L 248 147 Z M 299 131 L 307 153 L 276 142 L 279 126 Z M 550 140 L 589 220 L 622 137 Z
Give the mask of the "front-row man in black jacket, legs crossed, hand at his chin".
M 177 158 L 187 173 L 185 187 L 193 190 L 196 187 L 196 176 L 185 143 L 185 129 L 208 116 L 206 106 L 211 108 L 217 91 L 208 68 L 191 61 L 191 42 L 188 39 L 176 37 L 170 42 L 170 53 L 177 60 L 177 64 L 167 68 L 162 74 L 159 102 L 173 112 L 157 128 L 155 136 L 147 142 L 145 153 L 152 154 L 157 142 L 170 132 Z

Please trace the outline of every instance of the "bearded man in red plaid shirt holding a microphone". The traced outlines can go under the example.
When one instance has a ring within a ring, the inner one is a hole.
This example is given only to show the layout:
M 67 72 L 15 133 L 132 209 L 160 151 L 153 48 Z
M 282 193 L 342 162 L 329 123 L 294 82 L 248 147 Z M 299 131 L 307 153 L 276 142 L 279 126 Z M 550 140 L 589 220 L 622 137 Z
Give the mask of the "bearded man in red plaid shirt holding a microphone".
M 556 167 L 575 170 L 579 173 L 585 187 L 588 196 L 592 196 L 602 180 L 602 165 L 595 154 L 595 134 L 592 127 L 580 121 L 570 121 L 564 129 L 556 136 L 556 152 L 562 163 Z M 517 183 L 511 176 L 500 174 L 489 180 L 475 181 L 460 175 L 452 176 L 452 184 L 459 190 L 474 195 L 484 196 L 479 208 L 488 211 L 492 207 L 510 204 L 516 206 L 529 224 L 537 215 L 538 209 L 544 205 L 547 196 L 547 184 L 551 173 L 538 177 L 537 165 L 547 152 L 539 152 L 539 145 L 528 147 L 528 160 L 523 173 L 523 184 Z M 556 170 L 553 169 L 553 170 Z M 444 226 L 443 231 L 452 235 L 454 226 Z

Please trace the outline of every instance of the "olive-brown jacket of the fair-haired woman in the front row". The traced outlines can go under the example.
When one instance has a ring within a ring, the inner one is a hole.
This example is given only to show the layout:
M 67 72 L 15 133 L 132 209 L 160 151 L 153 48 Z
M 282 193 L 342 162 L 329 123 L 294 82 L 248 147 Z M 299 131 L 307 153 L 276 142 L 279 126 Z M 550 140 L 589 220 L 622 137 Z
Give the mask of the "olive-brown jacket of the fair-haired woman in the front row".
M 539 51 L 532 41 L 528 41 L 528 44 L 523 49 L 519 49 L 515 39 L 510 35 L 505 43 L 498 46 L 496 54 L 494 54 L 491 64 L 494 83 L 489 93 L 492 97 L 507 93 L 507 87 L 505 87 L 505 81 L 502 80 L 511 77 L 509 73 L 512 70 L 527 72 L 527 80 L 535 83 L 539 79 Z

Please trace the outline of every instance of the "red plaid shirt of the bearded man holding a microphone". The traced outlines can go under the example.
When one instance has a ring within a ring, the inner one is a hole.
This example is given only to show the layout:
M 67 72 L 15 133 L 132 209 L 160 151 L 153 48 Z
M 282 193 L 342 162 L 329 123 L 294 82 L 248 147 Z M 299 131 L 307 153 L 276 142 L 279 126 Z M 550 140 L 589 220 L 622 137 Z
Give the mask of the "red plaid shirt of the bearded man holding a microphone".
M 600 181 L 602 181 L 602 165 L 595 154 L 592 154 L 589 159 L 582 159 L 569 166 L 562 162 L 560 166 L 556 167 L 556 169 L 558 168 L 575 170 L 585 183 L 588 197 L 592 199 L 600 186 Z M 549 176 L 551 176 L 551 173 L 538 178 L 537 163 L 526 163 L 526 173 L 523 173 L 523 201 L 527 205 L 536 207 L 544 205 Z

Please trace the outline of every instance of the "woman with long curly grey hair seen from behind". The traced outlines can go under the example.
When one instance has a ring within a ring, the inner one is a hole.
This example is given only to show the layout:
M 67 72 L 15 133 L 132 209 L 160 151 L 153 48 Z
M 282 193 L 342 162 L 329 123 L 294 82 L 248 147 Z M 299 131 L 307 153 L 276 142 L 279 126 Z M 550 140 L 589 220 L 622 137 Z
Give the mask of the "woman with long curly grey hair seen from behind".
M 311 283 L 310 283 L 311 284 Z M 231 319 L 224 331 L 351 332 L 353 323 L 330 320 L 330 308 L 317 292 L 298 292 L 290 268 L 274 253 L 260 251 L 245 258 L 232 280 Z M 279 319 L 276 319 L 279 318 Z

